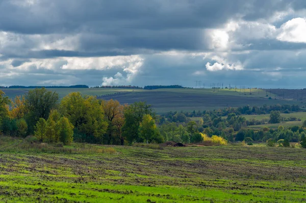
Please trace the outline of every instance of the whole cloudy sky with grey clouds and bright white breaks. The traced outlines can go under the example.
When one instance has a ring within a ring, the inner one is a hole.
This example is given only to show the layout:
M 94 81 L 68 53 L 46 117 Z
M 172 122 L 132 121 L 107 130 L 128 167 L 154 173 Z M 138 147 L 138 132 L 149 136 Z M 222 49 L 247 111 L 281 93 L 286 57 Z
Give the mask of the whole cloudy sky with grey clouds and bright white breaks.
M 305 78 L 304 0 L 0 0 L 1 86 Z

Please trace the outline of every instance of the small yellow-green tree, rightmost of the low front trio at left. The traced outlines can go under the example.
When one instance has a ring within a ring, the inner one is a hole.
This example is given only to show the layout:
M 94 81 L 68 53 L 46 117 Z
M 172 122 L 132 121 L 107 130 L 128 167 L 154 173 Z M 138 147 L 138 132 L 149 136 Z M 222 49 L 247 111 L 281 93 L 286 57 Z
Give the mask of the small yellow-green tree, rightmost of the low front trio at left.
M 70 144 L 73 140 L 73 125 L 65 117 L 58 121 L 59 140 L 65 145 Z

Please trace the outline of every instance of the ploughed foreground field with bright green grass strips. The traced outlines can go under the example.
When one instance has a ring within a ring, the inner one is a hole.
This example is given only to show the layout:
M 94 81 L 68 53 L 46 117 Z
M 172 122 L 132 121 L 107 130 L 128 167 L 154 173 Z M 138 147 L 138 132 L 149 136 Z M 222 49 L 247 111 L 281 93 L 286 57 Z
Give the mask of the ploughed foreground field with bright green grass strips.
M 21 142 L 0 145 L 2 202 L 306 201 L 303 149 L 87 145 L 96 150 L 34 153 Z

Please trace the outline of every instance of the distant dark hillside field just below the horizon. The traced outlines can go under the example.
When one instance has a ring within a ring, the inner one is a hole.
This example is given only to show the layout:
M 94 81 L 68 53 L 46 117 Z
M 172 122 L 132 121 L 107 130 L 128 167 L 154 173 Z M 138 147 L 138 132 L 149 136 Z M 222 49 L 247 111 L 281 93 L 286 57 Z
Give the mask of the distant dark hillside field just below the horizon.
M 14 98 L 16 95 L 27 93 L 29 89 L 2 89 L 7 96 Z M 245 90 L 242 94 L 239 89 L 48 89 L 59 93 L 63 98 L 71 92 L 81 92 L 84 95 L 98 96 L 100 99 L 115 99 L 120 103 L 134 103 L 146 101 L 158 112 L 167 111 L 193 111 L 218 109 L 224 107 L 238 107 L 249 104 L 250 106 L 262 106 L 264 104 L 299 104 L 297 101 L 290 100 L 269 100 L 264 90 Z M 271 95 L 273 98 L 274 96 Z

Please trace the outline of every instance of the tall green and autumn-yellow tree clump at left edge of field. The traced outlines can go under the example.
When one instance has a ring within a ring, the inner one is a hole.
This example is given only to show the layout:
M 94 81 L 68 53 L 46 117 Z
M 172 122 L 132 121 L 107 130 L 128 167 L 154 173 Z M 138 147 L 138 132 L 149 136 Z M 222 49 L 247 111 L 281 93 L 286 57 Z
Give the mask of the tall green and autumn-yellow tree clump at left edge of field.
M 163 142 L 150 105 L 98 100 L 79 92 L 59 101 L 45 88 L 30 90 L 10 100 L 0 91 L 0 131 L 4 135 L 34 135 L 42 142 L 72 140 L 88 143 L 130 144 Z

